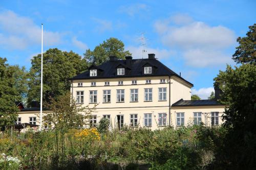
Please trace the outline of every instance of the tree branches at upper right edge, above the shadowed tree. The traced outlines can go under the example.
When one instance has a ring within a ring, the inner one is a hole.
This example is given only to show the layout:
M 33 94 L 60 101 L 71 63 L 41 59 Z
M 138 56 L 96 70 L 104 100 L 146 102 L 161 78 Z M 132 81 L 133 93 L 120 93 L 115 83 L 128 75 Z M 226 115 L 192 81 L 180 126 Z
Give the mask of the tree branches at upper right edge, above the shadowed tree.
M 238 37 L 239 46 L 232 59 L 237 63 L 255 63 L 256 62 L 256 23 L 249 26 L 246 37 Z

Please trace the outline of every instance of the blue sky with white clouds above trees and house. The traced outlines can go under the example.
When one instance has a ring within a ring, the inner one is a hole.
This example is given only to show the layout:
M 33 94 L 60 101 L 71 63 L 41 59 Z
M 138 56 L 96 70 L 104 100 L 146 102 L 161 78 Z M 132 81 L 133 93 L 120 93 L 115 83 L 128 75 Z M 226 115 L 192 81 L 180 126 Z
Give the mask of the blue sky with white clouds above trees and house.
M 192 93 L 206 99 L 219 70 L 234 65 L 236 38 L 255 23 L 255 7 L 255 1 L 1 0 L 0 57 L 29 69 L 30 59 L 40 53 L 41 23 L 45 50 L 82 55 L 116 37 L 133 58 L 155 53 L 194 84 Z

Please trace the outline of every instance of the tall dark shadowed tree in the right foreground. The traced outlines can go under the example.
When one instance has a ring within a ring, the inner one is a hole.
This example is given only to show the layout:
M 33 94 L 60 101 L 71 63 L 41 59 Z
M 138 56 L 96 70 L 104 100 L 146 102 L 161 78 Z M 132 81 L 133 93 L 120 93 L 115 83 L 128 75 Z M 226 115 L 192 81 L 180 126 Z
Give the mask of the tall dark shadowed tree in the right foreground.
M 224 145 L 216 156 L 225 169 L 254 169 L 256 162 L 256 65 L 227 66 L 215 78 L 223 91 Z M 224 169 L 223 168 L 223 169 Z

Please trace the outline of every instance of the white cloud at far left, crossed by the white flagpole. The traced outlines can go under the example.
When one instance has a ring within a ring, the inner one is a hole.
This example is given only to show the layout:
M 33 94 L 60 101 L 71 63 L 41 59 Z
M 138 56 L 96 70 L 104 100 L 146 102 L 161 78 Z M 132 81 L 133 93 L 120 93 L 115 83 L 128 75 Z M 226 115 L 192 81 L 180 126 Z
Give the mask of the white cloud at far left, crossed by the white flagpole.
M 9 49 L 24 49 L 31 44 L 40 44 L 41 28 L 29 17 L 18 16 L 13 11 L 0 13 L 0 44 Z M 55 45 L 61 42 L 58 32 L 44 31 L 45 45 Z

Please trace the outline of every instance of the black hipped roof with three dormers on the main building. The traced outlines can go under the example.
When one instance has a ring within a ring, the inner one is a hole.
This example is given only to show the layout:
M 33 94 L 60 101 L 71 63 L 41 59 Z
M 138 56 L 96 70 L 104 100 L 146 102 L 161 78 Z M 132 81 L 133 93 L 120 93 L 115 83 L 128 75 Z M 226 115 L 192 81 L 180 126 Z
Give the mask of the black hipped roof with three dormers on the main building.
M 152 74 L 144 74 L 144 66 L 152 66 Z M 125 75 L 117 75 L 117 68 L 129 68 L 125 70 Z M 81 80 L 81 79 L 99 79 L 99 78 L 129 78 L 129 77 L 145 77 L 145 76 L 176 76 L 177 78 L 185 81 L 189 85 L 193 86 L 192 83 L 186 81 L 173 70 L 166 67 L 163 63 L 157 59 L 110 59 L 98 66 L 91 66 L 92 69 L 100 69 L 97 71 L 97 76 L 90 77 L 90 70 L 84 71 L 81 74 L 71 78 L 70 80 Z

